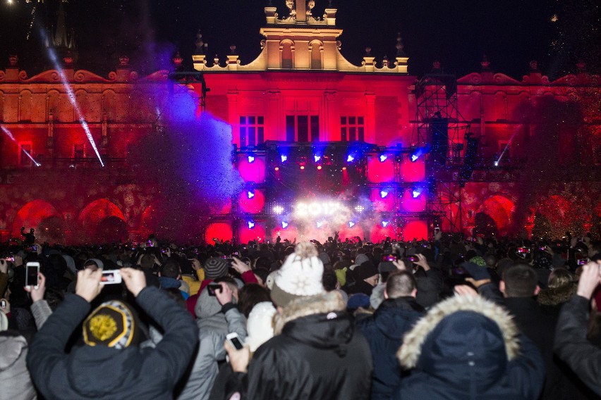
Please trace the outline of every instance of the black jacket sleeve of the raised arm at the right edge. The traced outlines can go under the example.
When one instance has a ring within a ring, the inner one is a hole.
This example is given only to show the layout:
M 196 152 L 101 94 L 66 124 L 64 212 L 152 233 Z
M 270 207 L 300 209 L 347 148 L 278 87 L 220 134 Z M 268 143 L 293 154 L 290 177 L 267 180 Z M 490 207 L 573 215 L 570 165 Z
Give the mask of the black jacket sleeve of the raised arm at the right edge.
M 586 339 L 588 303 L 576 295 L 561 308 L 554 349 L 585 385 L 601 395 L 601 349 Z

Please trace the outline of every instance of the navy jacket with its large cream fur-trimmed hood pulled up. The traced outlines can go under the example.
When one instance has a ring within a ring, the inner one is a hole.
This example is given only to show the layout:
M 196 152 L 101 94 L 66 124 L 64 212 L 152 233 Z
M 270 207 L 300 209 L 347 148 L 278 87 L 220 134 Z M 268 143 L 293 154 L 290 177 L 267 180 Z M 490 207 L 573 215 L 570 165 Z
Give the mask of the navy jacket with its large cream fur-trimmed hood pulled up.
M 393 399 L 537 399 L 540 352 L 503 308 L 480 296 L 433 307 L 403 339 L 401 366 L 413 368 Z

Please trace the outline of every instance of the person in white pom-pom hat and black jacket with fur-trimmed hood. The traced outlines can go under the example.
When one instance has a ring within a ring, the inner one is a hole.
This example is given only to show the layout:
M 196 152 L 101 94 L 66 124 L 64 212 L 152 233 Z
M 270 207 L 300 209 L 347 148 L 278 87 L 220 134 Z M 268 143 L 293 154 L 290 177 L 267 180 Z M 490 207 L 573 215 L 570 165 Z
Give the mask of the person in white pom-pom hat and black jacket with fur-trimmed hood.
M 338 292 L 324 292 L 323 263 L 303 242 L 274 278 L 275 336 L 248 363 L 226 343 L 246 399 L 369 399 L 372 358 Z M 247 373 L 248 368 L 248 373 Z

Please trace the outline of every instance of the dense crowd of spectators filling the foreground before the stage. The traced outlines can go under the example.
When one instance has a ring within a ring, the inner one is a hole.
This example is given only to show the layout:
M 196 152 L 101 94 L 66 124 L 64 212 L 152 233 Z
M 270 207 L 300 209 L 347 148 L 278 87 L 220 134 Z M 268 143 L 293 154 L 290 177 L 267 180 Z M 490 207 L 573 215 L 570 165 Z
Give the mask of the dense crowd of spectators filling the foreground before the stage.
M 0 399 L 601 396 L 591 235 L 63 246 L 22 233 L 0 249 Z

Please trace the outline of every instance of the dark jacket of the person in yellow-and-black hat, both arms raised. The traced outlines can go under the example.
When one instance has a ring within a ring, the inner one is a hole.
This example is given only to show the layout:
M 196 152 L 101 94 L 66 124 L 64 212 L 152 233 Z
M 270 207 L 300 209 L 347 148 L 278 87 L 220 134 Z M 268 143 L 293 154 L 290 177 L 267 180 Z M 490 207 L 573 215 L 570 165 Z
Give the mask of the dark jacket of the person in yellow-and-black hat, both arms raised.
M 198 342 L 198 328 L 188 312 L 155 287 L 136 297 L 164 328 L 155 349 L 128 346 L 80 346 L 65 354 L 75 327 L 90 311 L 78 295 L 67 296 L 30 346 L 28 368 L 46 399 L 171 399 L 179 377 Z

